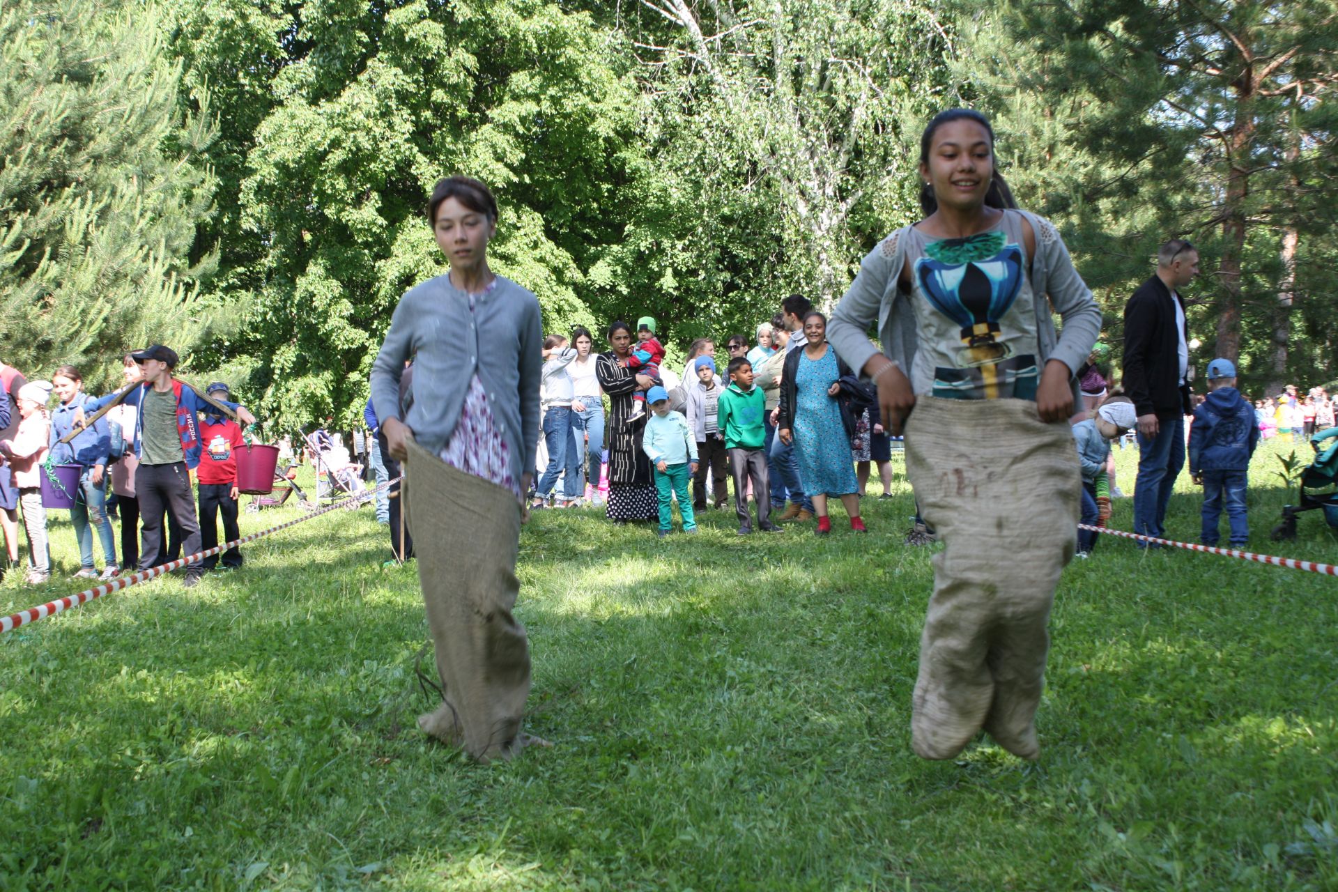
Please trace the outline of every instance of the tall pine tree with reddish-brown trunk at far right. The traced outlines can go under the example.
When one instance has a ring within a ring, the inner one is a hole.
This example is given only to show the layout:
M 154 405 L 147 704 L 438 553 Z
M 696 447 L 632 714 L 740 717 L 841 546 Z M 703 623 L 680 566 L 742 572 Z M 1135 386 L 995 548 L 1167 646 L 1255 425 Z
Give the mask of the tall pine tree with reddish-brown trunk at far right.
M 1131 261 L 1172 234 L 1202 242 L 1210 348 L 1271 368 L 1278 296 L 1295 297 L 1279 242 L 1315 205 L 1293 183 L 1331 182 L 1333 0 L 1004 3 L 981 17 L 997 31 L 975 32 L 971 84 L 1033 162 L 1076 162 L 1038 183 L 1061 219 L 1137 245 Z M 1263 322 L 1242 357 L 1243 328 Z

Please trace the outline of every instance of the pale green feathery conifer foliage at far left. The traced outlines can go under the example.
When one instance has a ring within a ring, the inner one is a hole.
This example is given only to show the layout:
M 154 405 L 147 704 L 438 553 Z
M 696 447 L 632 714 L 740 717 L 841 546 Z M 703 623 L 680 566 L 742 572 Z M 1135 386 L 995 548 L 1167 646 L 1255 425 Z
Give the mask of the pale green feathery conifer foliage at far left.
M 202 114 L 178 112 L 181 64 L 153 5 L 0 7 L 0 354 L 29 377 L 63 362 L 91 386 L 151 341 L 207 338 L 191 257 L 214 178 Z

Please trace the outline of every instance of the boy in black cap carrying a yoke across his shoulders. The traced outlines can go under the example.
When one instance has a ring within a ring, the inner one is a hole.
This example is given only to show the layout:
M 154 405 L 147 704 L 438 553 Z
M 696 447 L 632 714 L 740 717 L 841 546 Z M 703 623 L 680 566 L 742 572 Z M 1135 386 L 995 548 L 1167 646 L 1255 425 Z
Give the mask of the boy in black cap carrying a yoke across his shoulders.
M 210 409 L 198 393 L 171 376 L 177 368 L 177 352 L 162 344 L 131 353 L 130 358 L 143 372 L 143 384 L 123 399 L 127 405 L 138 405 L 135 417 L 135 499 L 139 501 L 140 531 L 139 568 L 149 570 L 162 546 L 163 512 L 181 526 L 187 555 L 199 551 L 199 523 L 195 519 L 195 500 L 190 492 L 190 469 L 199 464 L 203 444 L 195 413 Z M 84 404 L 84 412 L 96 412 L 112 403 L 115 393 Z M 256 424 L 256 416 L 245 407 L 219 400 L 237 412 L 244 424 Z M 201 562 L 187 564 L 185 586 L 190 588 L 205 574 Z

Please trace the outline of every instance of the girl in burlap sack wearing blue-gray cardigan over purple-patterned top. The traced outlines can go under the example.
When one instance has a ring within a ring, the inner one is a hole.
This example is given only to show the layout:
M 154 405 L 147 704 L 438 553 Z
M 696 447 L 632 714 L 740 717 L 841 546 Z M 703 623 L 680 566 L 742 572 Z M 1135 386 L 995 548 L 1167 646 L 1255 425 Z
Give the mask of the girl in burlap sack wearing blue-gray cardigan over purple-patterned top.
M 543 336 L 534 294 L 488 269 L 496 219 L 476 179 L 436 185 L 428 221 L 451 270 L 400 298 L 372 366 L 387 451 L 404 463 L 403 510 L 442 677 L 442 705 L 419 728 L 480 761 L 542 742 L 520 730 L 530 650 L 512 610 Z

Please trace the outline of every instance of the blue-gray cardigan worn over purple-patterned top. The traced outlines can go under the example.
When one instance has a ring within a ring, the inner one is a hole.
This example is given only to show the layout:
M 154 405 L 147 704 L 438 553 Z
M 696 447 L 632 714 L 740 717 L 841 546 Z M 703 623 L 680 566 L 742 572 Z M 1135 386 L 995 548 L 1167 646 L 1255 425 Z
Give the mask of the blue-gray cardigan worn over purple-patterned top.
M 508 278 L 475 298 L 438 275 L 405 292 L 372 365 L 372 405 L 381 424 L 399 419 L 432 452 L 451 439 L 475 372 L 488 395 L 516 481 L 534 468 L 539 444 L 543 332 L 539 301 Z M 404 361 L 413 358 L 413 403 L 401 417 Z

